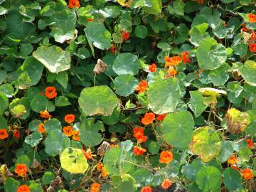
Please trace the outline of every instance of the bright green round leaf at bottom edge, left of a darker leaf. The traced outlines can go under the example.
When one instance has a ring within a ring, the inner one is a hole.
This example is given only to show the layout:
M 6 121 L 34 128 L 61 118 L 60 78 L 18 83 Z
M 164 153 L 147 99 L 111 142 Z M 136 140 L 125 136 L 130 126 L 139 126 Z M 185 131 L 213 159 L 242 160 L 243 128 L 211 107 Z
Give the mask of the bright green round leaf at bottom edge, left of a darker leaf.
M 196 174 L 196 183 L 204 191 L 220 191 L 221 173 L 215 166 L 201 166 Z

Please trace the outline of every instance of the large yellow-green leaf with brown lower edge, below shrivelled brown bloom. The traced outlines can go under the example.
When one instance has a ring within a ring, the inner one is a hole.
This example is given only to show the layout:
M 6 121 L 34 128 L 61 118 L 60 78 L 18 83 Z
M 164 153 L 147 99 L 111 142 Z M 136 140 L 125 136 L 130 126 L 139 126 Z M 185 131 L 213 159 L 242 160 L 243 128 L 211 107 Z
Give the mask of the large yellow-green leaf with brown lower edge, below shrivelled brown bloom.
M 79 106 L 87 115 L 110 115 L 117 106 L 117 96 L 105 85 L 86 87 L 78 99 Z

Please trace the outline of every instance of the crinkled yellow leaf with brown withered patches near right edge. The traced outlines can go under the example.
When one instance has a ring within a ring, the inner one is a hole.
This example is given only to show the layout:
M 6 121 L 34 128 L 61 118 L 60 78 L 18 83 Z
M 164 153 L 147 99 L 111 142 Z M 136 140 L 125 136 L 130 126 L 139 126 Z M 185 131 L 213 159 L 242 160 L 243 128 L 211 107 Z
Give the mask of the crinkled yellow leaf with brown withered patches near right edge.
M 225 114 L 225 119 L 228 123 L 228 129 L 231 133 L 244 132 L 248 124 L 250 124 L 249 114 L 240 112 L 235 108 L 231 108 Z

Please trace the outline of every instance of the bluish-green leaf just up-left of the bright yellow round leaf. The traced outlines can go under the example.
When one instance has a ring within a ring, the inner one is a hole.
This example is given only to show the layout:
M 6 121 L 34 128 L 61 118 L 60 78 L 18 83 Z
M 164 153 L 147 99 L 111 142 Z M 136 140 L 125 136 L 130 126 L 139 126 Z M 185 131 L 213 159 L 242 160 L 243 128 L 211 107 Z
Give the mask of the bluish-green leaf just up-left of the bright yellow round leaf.
M 60 130 L 54 129 L 48 133 L 44 144 L 46 146 L 46 154 L 56 156 L 70 146 L 70 139 Z

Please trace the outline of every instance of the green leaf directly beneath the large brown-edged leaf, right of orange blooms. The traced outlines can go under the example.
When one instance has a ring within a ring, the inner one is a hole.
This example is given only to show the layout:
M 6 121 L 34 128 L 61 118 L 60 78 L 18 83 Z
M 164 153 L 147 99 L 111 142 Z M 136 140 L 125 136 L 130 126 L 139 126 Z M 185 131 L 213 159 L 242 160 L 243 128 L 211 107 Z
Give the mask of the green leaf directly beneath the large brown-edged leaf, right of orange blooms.
M 80 142 L 85 146 L 95 146 L 102 142 L 102 136 L 99 131 L 104 132 L 105 128 L 102 122 L 95 119 L 85 119 L 80 125 Z

